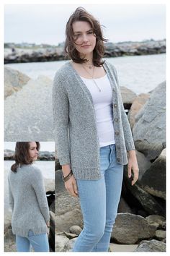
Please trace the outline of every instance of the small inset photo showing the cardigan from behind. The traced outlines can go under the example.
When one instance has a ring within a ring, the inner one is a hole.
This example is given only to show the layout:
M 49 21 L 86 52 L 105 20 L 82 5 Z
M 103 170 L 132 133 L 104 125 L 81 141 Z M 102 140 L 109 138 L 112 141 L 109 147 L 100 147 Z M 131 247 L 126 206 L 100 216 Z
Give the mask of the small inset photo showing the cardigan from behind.
M 4 142 L 4 252 L 55 251 L 55 142 Z

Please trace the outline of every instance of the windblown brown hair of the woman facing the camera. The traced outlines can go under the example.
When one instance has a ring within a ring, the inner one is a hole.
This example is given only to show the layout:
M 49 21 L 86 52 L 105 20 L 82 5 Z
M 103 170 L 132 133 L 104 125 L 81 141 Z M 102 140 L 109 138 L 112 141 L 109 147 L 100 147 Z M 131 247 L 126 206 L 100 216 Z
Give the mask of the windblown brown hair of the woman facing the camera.
M 96 20 L 92 14 L 89 12 L 86 12 L 86 9 L 83 7 L 78 7 L 73 14 L 71 14 L 71 17 L 69 18 L 67 25 L 66 25 L 66 42 L 65 42 L 65 53 L 67 56 L 69 56 L 74 62 L 76 63 L 84 63 L 87 60 L 81 59 L 79 56 L 79 52 L 76 50 L 74 46 L 75 38 L 73 38 L 73 22 L 76 21 L 86 21 L 89 22 L 93 29 L 93 33 L 96 36 L 96 46 L 93 51 L 93 64 L 96 67 L 100 67 L 102 64 L 104 64 L 104 61 L 102 61 L 102 57 L 104 56 L 104 42 L 107 42 L 107 39 L 105 39 L 102 35 L 102 25 L 99 24 L 99 21 Z

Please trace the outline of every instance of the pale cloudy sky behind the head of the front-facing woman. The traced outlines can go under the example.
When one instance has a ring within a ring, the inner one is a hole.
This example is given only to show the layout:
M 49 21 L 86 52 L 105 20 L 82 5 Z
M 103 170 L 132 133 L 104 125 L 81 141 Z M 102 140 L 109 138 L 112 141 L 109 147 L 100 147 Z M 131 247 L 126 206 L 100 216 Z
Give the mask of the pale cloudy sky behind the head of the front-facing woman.
M 166 38 L 165 4 L 5 4 L 4 42 L 58 45 L 79 6 L 104 25 L 109 42 Z

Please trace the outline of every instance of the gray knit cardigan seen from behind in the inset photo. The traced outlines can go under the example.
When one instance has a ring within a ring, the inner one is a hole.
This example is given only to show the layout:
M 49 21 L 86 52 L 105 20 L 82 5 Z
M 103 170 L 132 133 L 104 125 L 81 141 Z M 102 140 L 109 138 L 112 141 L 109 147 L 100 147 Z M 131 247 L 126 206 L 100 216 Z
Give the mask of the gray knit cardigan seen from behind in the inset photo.
M 50 215 L 40 169 L 32 165 L 18 167 L 17 173 L 9 171 L 8 182 L 13 234 L 27 237 L 30 229 L 34 234 L 47 233 Z

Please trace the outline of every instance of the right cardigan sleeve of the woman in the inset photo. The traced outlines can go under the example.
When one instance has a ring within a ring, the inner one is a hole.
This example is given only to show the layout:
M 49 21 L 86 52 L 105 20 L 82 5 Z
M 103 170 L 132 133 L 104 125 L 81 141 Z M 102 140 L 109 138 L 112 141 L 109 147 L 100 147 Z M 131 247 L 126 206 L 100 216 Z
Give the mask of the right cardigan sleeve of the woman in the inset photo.
M 40 207 L 42 216 L 45 219 L 45 223 L 48 223 L 50 221 L 48 200 L 45 193 L 44 179 L 39 168 L 34 167 L 34 169 L 32 170 L 32 176 L 30 179 L 31 179 L 32 187 L 35 190 L 35 195 L 37 197 L 37 202 Z

